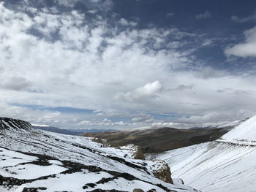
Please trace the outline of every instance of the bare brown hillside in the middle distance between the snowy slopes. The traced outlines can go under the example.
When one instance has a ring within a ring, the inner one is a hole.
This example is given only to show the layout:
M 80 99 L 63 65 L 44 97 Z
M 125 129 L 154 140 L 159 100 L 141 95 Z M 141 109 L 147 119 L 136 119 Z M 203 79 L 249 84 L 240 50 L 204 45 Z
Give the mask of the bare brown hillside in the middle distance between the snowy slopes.
M 142 147 L 143 153 L 159 153 L 202 142 L 214 141 L 239 123 L 241 122 L 238 121 L 223 126 L 211 126 L 211 128 L 146 128 L 131 131 L 88 133 L 84 136 L 106 139 L 112 146 L 132 143 Z

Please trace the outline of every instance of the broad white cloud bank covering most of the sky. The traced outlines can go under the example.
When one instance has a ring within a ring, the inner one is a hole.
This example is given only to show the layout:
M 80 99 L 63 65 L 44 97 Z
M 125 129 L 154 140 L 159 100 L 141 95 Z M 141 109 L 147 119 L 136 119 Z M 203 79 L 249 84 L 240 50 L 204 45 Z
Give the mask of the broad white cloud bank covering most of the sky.
M 231 76 L 201 64 L 192 54 L 196 46 L 189 42 L 200 39 L 196 34 L 175 27 L 136 28 L 121 18 L 111 23 L 72 7 L 63 12 L 59 7 L 29 7 L 27 2 L 26 12 L 0 4 L 0 116 L 97 128 L 151 126 L 158 120 L 149 112 L 202 116 L 214 111 L 232 114 L 244 107 L 243 118 L 255 110 L 255 77 Z M 89 9 L 94 9 L 103 1 L 90 2 Z M 105 2 L 111 7 L 112 1 Z M 217 93 L 237 86 L 252 92 Z M 47 110 L 50 107 L 95 112 L 70 115 Z

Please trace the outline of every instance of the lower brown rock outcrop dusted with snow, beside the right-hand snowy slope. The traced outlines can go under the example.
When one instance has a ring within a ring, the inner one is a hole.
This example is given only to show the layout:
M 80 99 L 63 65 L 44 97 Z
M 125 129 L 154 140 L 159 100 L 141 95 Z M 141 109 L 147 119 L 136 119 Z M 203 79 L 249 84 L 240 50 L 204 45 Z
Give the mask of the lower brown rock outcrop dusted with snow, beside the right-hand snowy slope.
M 173 184 L 173 180 L 171 178 L 170 167 L 165 161 L 162 160 L 154 160 L 153 164 L 150 166 L 151 172 L 159 178 L 159 180 L 163 180 L 166 183 Z

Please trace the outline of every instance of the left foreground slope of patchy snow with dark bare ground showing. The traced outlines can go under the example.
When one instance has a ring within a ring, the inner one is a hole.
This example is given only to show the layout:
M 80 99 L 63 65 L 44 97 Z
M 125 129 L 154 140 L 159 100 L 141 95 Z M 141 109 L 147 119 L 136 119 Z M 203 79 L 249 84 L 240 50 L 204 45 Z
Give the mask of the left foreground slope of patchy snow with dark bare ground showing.
M 154 163 L 91 138 L 0 118 L 0 191 L 196 191 L 154 177 Z

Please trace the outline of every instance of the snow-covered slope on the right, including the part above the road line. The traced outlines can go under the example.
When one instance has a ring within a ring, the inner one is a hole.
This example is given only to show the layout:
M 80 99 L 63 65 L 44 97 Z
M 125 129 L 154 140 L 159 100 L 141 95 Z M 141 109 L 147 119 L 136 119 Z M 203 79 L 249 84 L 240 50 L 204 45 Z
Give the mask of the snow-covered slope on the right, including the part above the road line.
M 162 159 L 173 177 L 200 191 L 256 191 L 256 116 L 214 142 L 182 147 L 147 159 Z

